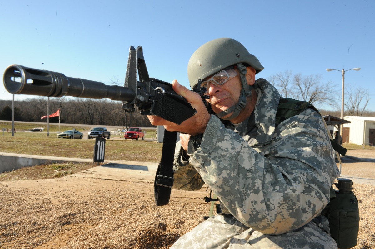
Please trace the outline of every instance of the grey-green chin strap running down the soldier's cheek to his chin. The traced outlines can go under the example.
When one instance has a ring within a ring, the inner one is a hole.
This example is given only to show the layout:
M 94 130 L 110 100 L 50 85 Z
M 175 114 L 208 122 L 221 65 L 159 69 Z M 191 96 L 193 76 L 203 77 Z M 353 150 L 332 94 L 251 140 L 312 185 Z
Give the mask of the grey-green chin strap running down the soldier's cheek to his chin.
M 251 96 L 251 90 L 253 89 L 253 87 L 248 85 L 248 82 L 246 81 L 246 72 L 247 72 L 246 67 L 242 63 L 239 63 L 237 64 L 237 70 L 240 72 L 240 80 L 241 80 L 241 86 L 242 86 L 239 100 L 237 102 L 237 105 L 233 105 L 217 113 L 217 117 L 219 117 L 219 119 L 223 119 L 223 120 L 235 119 L 240 114 L 240 111 L 245 107 L 246 98 Z M 223 118 L 224 116 L 230 113 L 233 113 L 233 114 L 229 117 Z

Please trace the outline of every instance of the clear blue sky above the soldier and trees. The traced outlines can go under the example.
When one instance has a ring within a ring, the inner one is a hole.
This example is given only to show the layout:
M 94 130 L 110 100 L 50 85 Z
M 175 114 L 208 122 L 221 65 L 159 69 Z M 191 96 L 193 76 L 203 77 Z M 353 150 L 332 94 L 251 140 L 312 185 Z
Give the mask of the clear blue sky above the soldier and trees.
M 369 90 L 375 111 L 375 1 L 0 1 L 0 73 L 7 66 L 124 81 L 130 46 L 142 46 L 150 77 L 188 86 L 187 62 L 202 44 L 238 40 L 265 69 L 321 74 L 341 92 Z M 15 95 L 15 99 L 33 96 Z M 12 99 L 0 84 L 0 99 Z

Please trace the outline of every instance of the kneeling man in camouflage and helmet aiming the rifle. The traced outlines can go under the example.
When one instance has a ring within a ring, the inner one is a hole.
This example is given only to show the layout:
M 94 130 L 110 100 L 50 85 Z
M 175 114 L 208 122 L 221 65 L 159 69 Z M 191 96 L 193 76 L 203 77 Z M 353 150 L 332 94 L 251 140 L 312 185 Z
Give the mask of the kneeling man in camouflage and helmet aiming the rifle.
M 154 125 L 180 131 L 174 188 L 206 183 L 222 212 L 178 239 L 172 248 L 337 248 L 321 211 L 339 176 L 323 120 L 307 108 L 275 126 L 280 95 L 258 59 L 239 42 L 221 38 L 199 47 L 187 66 L 190 86 L 172 82 L 197 114 L 180 125 L 149 116 Z M 209 109 L 209 110 L 207 110 Z

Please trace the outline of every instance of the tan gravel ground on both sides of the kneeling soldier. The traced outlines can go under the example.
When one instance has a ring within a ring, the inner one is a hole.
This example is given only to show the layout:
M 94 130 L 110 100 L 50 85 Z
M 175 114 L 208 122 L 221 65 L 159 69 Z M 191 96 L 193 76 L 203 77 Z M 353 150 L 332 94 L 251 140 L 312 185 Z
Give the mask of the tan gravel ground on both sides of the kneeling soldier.
M 373 166 L 347 163 L 343 172 L 367 167 L 365 176 L 375 176 Z M 155 207 L 150 182 L 145 193 L 133 182 L 68 179 L 0 182 L 1 249 L 166 249 L 209 211 L 202 198 Z M 375 248 L 375 186 L 354 187 L 361 215 L 355 249 Z

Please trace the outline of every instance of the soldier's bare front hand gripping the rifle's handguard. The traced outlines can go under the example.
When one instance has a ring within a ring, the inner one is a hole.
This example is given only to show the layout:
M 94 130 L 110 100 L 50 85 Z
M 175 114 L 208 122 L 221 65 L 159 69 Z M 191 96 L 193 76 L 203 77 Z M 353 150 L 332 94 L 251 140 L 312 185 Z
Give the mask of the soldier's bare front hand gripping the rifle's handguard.
M 193 108 L 197 111 L 195 115 L 185 120 L 181 124 L 175 124 L 168 120 L 162 119 L 157 116 L 147 116 L 153 125 L 163 125 L 166 130 L 178 131 L 190 135 L 197 135 L 204 133 L 208 120 L 210 120 L 210 114 L 205 107 L 201 96 L 198 93 L 192 92 L 184 86 L 181 86 L 177 80 L 172 82 L 173 90 L 183 96 Z

